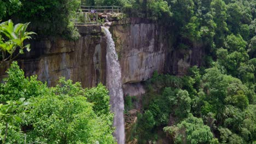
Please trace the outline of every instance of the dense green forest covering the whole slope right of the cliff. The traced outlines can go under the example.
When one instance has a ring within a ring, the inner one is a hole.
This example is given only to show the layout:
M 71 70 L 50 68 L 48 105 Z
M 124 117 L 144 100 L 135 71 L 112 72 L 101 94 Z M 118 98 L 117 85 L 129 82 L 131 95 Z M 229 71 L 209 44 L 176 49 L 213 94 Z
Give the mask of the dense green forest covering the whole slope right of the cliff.
M 131 2 L 124 9 L 131 17 L 154 17 L 151 12 L 161 8 L 151 7 L 150 2 Z M 168 41 L 171 51 L 200 49 L 205 58 L 201 67 L 190 68 L 188 75 L 154 73 L 146 81 L 143 111 L 152 113 L 155 126 L 147 131 L 151 138 L 142 137 L 143 142 L 153 140 L 156 133 L 160 136 L 160 127 L 169 126 L 166 131 L 176 143 L 255 143 L 255 1 L 166 2 L 171 15 L 161 13 L 158 17 L 164 19 L 158 20 L 168 33 L 166 37 L 172 38 Z M 210 127 L 211 140 L 190 139 L 187 130 L 175 126 L 190 112 Z

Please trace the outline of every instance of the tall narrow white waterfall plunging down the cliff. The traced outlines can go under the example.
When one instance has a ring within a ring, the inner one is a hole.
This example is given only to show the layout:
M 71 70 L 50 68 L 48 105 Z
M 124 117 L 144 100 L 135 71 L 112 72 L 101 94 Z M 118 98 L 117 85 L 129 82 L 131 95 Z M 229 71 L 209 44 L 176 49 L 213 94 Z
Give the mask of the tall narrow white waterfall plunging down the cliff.
M 115 43 L 106 27 L 102 27 L 107 37 L 107 87 L 110 95 L 111 110 L 114 112 L 114 136 L 118 144 L 125 143 L 124 98 L 121 85 L 121 68 L 118 62 Z

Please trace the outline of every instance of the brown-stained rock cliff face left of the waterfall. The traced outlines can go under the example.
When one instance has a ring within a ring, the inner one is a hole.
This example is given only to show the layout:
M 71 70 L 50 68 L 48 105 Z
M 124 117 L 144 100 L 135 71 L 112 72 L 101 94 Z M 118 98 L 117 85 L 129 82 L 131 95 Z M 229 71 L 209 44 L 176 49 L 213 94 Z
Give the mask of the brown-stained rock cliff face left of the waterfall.
M 77 41 L 60 38 L 32 41 L 31 52 L 18 62 L 25 75 L 38 75 L 38 79 L 56 85 L 59 77 L 79 81 L 83 87 L 106 83 L 106 41 L 101 27 L 78 27 L 81 37 Z M 0 75 L 8 64 L 1 68 Z M 0 77 L 0 78 L 1 78 Z

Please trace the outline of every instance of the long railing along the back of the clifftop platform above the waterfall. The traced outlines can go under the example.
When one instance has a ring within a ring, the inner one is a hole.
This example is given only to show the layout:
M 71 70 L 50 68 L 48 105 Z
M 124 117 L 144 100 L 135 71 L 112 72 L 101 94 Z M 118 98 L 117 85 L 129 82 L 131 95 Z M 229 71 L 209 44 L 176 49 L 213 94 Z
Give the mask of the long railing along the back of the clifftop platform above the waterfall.
M 91 12 L 91 10 L 96 10 L 97 12 L 101 13 L 121 13 L 122 12 L 122 7 L 119 6 L 85 6 L 81 5 L 80 6 L 82 11 L 85 12 Z

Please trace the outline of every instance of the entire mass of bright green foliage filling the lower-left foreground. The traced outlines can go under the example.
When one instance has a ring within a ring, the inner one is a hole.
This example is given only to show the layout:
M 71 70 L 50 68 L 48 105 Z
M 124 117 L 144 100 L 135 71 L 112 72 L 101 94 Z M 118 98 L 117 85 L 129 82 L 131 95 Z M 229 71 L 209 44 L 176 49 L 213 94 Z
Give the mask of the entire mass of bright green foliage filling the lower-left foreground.
M 0 85 L 3 143 L 25 143 L 25 137 L 27 143 L 116 143 L 108 91 L 102 84 L 83 89 L 61 78 L 49 88 L 36 76 L 25 78 L 17 62 L 7 73 Z

